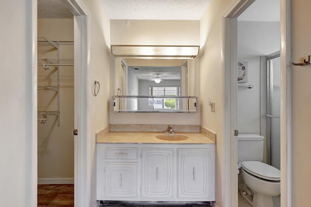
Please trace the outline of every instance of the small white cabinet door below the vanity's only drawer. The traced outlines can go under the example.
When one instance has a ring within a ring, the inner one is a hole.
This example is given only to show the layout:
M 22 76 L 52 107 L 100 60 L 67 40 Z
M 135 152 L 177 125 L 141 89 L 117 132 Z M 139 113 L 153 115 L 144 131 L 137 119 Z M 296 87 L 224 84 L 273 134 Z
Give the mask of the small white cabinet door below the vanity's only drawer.
M 137 162 L 105 162 L 105 198 L 135 198 L 137 167 Z

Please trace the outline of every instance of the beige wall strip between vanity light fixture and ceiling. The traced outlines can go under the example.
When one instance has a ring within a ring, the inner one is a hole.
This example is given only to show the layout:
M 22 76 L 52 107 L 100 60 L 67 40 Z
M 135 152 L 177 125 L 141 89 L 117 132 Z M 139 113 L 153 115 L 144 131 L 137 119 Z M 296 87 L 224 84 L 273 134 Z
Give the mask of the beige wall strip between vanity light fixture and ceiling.
M 111 20 L 111 45 L 199 45 L 196 20 Z

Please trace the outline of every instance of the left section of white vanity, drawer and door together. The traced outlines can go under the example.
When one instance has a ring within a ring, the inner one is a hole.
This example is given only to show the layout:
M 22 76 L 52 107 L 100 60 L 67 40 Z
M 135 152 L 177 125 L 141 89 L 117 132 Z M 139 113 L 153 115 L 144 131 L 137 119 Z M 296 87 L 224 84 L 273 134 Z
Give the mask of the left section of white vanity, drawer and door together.
M 138 148 L 97 144 L 97 199 L 138 196 Z

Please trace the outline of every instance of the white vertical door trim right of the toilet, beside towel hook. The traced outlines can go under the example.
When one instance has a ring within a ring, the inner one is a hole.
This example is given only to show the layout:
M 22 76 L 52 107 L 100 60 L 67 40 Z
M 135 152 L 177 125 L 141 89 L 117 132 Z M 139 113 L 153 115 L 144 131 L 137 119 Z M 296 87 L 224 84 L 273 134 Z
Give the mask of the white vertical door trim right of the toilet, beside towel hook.
M 281 207 L 292 207 L 291 0 L 280 1 L 281 26 Z

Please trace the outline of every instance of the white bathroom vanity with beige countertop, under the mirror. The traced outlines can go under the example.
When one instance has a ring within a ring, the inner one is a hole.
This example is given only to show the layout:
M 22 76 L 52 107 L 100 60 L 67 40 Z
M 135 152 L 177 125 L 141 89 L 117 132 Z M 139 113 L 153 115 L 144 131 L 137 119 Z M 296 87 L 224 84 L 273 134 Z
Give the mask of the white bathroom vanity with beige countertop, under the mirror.
M 97 137 L 97 200 L 214 201 L 215 143 L 201 133 L 156 139 L 161 132 Z

